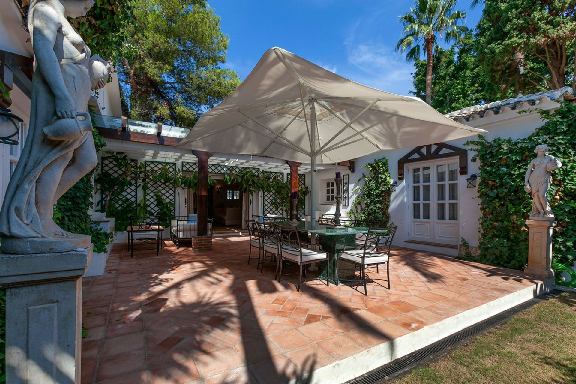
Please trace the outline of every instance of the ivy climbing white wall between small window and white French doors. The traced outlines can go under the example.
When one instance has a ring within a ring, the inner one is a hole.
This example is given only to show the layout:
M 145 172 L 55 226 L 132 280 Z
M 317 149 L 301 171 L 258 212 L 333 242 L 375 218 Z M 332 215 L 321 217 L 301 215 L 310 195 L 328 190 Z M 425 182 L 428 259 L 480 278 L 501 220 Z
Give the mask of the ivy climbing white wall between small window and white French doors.
M 388 171 L 388 159 L 382 157 L 374 162 L 363 165 L 369 174 L 362 173 L 357 187 L 352 191 L 355 195 L 350 204 L 350 215 L 355 220 L 366 223 L 381 223 L 386 226 L 390 220 L 390 197 L 392 180 Z M 363 183 L 361 183 L 363 181 Z

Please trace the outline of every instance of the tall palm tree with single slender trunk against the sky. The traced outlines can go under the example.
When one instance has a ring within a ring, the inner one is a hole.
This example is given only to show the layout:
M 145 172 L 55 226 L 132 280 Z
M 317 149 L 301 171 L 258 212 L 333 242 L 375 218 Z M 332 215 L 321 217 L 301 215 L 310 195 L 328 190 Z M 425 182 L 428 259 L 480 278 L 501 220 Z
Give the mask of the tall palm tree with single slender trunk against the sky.
M 437 45 L 437 35 L 446 43 L 458 39 L 464 26 L 456 25 L 466 18 L 464 11 L 454 11 L 456 0 L 416 0 L 410 12 L 400 16 L 404 25 L 403 37 L 396 44 L 396 51 L 405 52 L 406 61 L 420 58 L 420 43 L 426 50 L 426 102 L 432 101 L 432 64 L 433 51 Z

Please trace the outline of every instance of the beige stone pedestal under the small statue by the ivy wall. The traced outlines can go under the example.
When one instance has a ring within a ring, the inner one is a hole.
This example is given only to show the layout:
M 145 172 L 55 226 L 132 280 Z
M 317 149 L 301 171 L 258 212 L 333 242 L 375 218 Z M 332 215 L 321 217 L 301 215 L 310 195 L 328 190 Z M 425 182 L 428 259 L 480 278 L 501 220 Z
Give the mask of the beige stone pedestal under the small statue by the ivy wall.
M 528 226 L 528 267 L 524 273 L 528 276 L 550 279 L 552 271 L 552 229 L 553 220 L 526 220 Z

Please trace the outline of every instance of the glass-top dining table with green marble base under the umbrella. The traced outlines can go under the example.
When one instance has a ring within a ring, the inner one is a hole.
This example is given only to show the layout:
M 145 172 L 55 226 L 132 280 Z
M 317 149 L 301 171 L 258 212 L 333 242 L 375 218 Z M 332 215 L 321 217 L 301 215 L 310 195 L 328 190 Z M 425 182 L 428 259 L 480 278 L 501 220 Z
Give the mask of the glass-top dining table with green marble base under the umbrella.
M 290 222 L 277 222 L 279 225 L 294 225 Z M 347 263 L 344 260 L 338 260 L 340 252 L 344 249 L 345 245 L 356 245 L 356 236 L 358 234 L 367 234 L 367 227 L 336 227 L 334 225 L 326 225 L 314 223 L 309 221 L 301 221 L 296 224 L 296 228 L 300 233 L 300 240 L 308 242 L 310 245 L 315 245 L 318 242 L 322 250 L 328 253 L 329 261 L 320 261 L 317 263 L 318 276 L 320 279 L 327 279 L 327 272 L 329 271 L 329 282 L 336 283 L 335 271 L 336 263 L 338 263 L 338 277 L 342 279 L 355 279 L 354 264 Z M 310 238 L 308 237 L 310 234 Z

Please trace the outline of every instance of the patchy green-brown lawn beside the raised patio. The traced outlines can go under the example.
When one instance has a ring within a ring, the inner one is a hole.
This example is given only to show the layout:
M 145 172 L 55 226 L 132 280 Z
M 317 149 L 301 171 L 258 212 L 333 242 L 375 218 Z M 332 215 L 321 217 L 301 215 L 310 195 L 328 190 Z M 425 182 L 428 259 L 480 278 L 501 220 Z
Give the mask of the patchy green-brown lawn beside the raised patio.
M 576 384 L 576 293 L 522 311 L 391 382 Z

